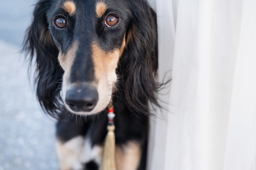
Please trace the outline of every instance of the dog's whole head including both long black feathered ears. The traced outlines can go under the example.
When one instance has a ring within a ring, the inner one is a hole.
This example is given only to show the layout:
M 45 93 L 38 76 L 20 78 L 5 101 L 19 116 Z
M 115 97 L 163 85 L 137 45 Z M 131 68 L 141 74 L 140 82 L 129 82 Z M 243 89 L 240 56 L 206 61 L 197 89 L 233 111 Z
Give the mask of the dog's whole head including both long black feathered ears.
M 130 105 L 145 105 L 144 93 L 155 90 L 156 34 L 155 14 L 144 0 L 40 0 L 25 49 L 31 60 L 36 55 L 41 106 L 53 113 L 63 101 L 72 113 L 99 113 L 117 81 Z

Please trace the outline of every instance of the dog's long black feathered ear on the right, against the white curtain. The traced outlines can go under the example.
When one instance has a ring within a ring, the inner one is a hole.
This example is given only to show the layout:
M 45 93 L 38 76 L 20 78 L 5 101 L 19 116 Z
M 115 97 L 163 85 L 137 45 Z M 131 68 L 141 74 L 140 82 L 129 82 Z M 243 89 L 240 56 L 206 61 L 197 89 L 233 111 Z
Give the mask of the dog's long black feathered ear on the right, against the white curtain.
M 120 59 L 119 74 L 126 103 L 135 113 L 149 114 L 148 102 L 159 106 L 156 82 L 157 20 L 145 1 L 132 2 L 133 18 L 126 33 L 126 49 Z

